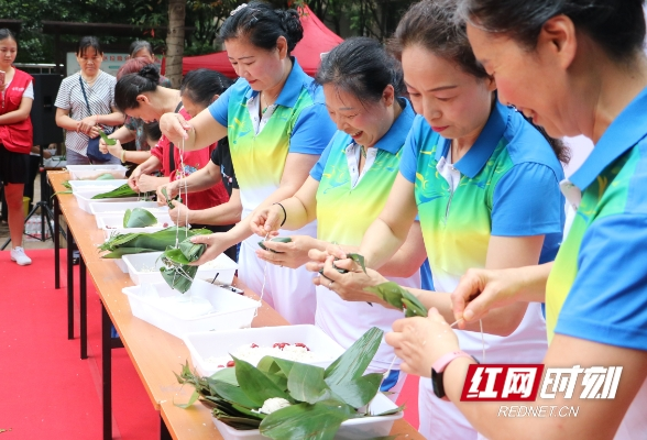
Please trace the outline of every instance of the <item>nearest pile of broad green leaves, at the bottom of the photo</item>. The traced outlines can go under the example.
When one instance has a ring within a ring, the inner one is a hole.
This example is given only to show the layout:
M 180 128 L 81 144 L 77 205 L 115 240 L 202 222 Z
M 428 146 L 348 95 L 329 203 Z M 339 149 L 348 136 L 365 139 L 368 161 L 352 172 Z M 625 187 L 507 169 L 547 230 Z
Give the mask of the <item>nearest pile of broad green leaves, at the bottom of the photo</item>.
M 379 415 L 361 410 L 382 383 L 380 373 L 364 375 L 382 336 L 372 328 L 328 369 L 273 356 L 253 366 L 234 358 L 234 367 L 197 377 L 187 363 L 176 377 L 196 391 L 187 404 L 176 405 L 187 408 L 199 398 L 221 422 L 239 430 L 260 429 L 272 439 L 333 439 L 346 420 L 403 409 Z

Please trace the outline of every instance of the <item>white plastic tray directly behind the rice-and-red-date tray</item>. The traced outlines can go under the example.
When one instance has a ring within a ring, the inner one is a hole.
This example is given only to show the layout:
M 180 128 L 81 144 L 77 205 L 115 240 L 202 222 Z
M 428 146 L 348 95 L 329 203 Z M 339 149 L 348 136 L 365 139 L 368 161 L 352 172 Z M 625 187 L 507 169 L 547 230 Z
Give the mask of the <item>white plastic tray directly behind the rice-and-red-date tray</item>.
M 195 279 L 186 294 L 173 290 L 166 283 L 124 287 L 122 290 L 130 302 L 132 314 L 177 338 L 188 333 L 210 330 L 241 329 L 250 327 L 260 302 L 242 295 Z M 212 311 L 198 317 L 183 315 L 177 304 L 169 304 L 171 297 L 189 300 L 204 298 Z

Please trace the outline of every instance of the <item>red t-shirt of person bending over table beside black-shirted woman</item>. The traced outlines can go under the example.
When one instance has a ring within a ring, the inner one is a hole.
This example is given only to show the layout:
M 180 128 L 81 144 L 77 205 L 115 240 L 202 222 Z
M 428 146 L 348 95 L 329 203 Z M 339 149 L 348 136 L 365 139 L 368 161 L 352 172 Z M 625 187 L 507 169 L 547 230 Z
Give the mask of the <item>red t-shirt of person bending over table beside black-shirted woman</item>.
M 184 108 L 179 110 L 179 114 L 182 114 L 187 121 L 191 119 Z M 169 158 L 171 142 L 166 136 L 163 135 L 160 139 L 157 145 L 151 150 L 151 154 L 162 162 L 162 174 L 166 177 L 171 177 L 171 182 L 173 182 L 189 176 L 198 169 L 207 166 L 211 160 L 211 152 L 216 150 L 217 145 L 218 144 L 215 143 L 201 150 L 184 152 L 184 154 L 180 152 L 182 145 L 175 145 L 173 148 L 175 169 L 173 170 L 171 170 Z M 204 191 L 189 193 L 186 196 L 183 194 L 182 197 L 186 197 L 185 205 L 194 210 L 212 208 L 229 201 L 229 195 L 227 194 L 227 189 L 224 189 L 222 182 L 209 189 L 205 189 Z

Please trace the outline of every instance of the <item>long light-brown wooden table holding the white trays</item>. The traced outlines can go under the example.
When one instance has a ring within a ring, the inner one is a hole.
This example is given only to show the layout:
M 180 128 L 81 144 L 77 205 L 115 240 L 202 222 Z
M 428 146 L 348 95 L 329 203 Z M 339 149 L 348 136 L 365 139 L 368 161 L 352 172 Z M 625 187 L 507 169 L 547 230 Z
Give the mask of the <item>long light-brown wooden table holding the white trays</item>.
M 66 174 L 51 174 L 50 180 L 55 191 L 61 190 Z M 78 208 L 72 195 L 61 195 L 61 211 L 68 224 L 69 235 L 74 235 L 81 255 L 80 267 L 81 290 L 80 302 L 85 305 L 85 270 L 90 274 L 102 305 L 101 353 L 102 353 L 102 394 L 103 394 L 103 438 L 112 437 L 111 411 L 111 349 L 110 326 L 114 324 L 123 346 L 144 384 L 153 407 L 160 411 L 161 437 L 163 439 L 221 439 L 215 428 L 210 411 L 200 404 L 189 409 L 174 405 L 188 400 L 193 389 L 180 387 L 173 371 L 179 372 L 179 365 L 190 360 L 190 353 L 184 342 L 152 324 L 133 317 L 128 297 L 121 289 L 132 286 L 128 274 L 111 261 L 102 260 L 97 252 L 97 244 L 103 241 L 102 231 L 97 229 L 95 217 Z M 69 280 L 69 277 L 68 277 Z M 253 299 L 259 297 L 249 290 L 240 280 L 237 286 L 244 289 L 244 295 Z M 81 323 L 85 322 L 87 310 L 81 307 Z M 252 327 L 286 326 L 287 321 L 263 301 L 259 316 Z M 81 331 L 83 336 L 83 331 Z M 83 345 L 87 341 L 81 341 Z M 393 433 L 407 436 L 407 439 L 423 437 L 404 419 L 394 424 Z

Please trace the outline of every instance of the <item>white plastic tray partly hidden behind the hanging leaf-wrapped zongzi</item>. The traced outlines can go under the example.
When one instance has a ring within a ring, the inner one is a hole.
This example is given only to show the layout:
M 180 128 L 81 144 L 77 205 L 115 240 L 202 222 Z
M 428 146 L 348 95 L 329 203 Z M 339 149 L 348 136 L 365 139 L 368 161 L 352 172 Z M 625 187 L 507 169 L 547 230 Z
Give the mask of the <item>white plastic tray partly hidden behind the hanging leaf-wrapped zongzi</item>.
M 122 260 L 128 267 L 130 279 L 138 286 L 142 284 L 164 283 L 164 278 L 162 278 L 162 274 L 160 273 L 160 267 L 162 267 L 160 255 L 162 255 L 162 252 L 123 255 Z M 216 278 L 221 284 L 231 284 L 237 270 L 238 264 L 233 260 L 224 254 L 220 254 L 212 262 L 199 266 L 196 277 L 209 282 Z

